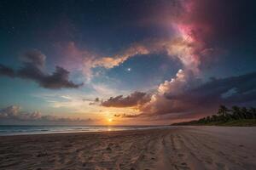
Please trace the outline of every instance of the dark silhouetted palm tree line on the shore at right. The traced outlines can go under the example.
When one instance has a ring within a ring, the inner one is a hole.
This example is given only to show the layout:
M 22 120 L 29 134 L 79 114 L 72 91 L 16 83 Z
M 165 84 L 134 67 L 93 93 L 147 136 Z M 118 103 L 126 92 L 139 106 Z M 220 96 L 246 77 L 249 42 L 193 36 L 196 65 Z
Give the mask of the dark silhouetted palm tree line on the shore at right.
M 172 125 L 211 124 L 214 122 L 232 122 L 249 119 L 256 119 L 256 108 L 238 107 L 235 105 L 229 109 L 225 105 L 220 105 L 215 115 L 203 117 L 196 121 L 173 123 Z

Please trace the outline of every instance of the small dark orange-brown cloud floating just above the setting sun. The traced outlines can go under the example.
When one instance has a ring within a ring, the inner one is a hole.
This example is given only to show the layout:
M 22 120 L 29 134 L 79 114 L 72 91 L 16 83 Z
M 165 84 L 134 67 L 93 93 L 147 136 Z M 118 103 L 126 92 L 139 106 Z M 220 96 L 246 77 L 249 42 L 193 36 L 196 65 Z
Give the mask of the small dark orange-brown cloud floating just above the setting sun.
M 143 92 L 134 92 L 126 97 L 119 95 L 116 97 L 111 97 L 106 101 L 102 102 L 105 107 L 132 107 L 137 105 L 143 105 L 148 102 L 150 96 Z

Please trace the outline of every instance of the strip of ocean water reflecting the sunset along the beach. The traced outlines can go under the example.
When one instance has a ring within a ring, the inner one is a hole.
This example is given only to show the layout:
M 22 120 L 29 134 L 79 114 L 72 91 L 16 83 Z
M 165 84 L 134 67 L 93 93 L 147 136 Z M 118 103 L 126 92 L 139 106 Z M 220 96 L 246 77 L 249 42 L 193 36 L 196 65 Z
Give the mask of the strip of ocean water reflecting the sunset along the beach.
M 0 125 L 0 136 L 42 133 L 79 133 L 148 129 L 163 126 L 18 126 Z

